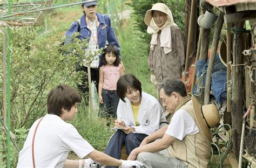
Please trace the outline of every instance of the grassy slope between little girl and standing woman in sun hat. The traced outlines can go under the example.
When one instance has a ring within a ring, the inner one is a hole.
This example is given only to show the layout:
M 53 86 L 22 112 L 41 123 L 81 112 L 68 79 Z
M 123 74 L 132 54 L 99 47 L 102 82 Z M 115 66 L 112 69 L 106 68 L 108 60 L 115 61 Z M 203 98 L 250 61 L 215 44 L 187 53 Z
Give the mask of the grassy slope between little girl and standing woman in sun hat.
M 149 43 L 145 43 L 134 30 L 133 18 L 123 20 L 122 29 L 118 37 L 121 46 L 122 61 L 125 73 L 135 75 L 142 82 L 144 92 L 157 96 L 156 88 L 150 82 L 150 70 L 147 64 Z M 150 41 L 149 41 L 150 42 Z

